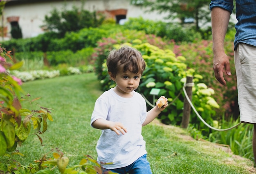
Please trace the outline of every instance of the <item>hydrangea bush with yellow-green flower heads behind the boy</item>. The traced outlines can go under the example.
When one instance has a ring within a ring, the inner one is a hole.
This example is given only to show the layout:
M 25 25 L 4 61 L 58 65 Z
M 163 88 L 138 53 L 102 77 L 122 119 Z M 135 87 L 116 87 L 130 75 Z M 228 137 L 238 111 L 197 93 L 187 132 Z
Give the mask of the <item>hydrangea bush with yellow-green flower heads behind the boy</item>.
M 164 95 L 168 98 L 169 103 L 171 103 L 182 90 L 186 76 L 193 76 L 193 81 L 196 84 L 193 87 L 193 104 L 204 120 L 212 125 L 212 116 L 215 115 L 213 108 L 219 107 L 216 101 L 211 97 L 214 91 L 208 88 L 205 84 L 199 83 L 202 76 L 197 75 L 195 70 L 191 68 L 187 69 L 185 57 L 176 57 L 173 51 L 169 49 L 162 50 L 148 43 L 142 43 L 140 40 L 134 40 L 132 44 L 124 44 L 137 48 L 146 61 L 147 66 L 138 88 L 139 93 L 143 94 L 148 101 L 152 101 L 153 96 L 150 95 L 150 90 L 152 88 L 159 88 L 159 96 Z M 114 47 L 119 48 L 120 45 L 116 44 Z M 104 50 L 101 51 L 104 53 Z M 107 55 L 104 57 L 105 62 Z M 99 79 L 101 79 L 103 90 L 108 90 L 109 88 L 114 87 L 115 83 L 110 81 L 108 77 L 106 63 L 104 63 L 102 67 L 102 72 L 98 72 Z M 183 101 L 184 95 L 180 95 L 175 102 L 169 105 L 168 108 L 159 115 L 159 119 L 166 124 L 180 125 L 183 114 Z M 156 101 L 153 101 L 153 103 L 155 102 Z M 204 134 L 209 134 L 211 130 L 207 126 L 204 126 L 204 124 L 202 124 L 196 117 L 195 113 L 191 112 L 190 123 L 195 125 L 198 129 L 203 128 Z

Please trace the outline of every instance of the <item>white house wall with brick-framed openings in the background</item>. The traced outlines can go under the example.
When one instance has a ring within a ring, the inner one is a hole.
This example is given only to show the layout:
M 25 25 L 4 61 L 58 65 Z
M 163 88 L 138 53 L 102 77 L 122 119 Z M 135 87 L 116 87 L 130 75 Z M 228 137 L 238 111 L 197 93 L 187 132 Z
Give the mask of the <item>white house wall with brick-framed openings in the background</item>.
M 43 24 L 45 15 L 52 9 L 61 11 L 64 5 L 66 9 L 81 7 L 81 0 L 6 0 L 3 10 L 2 28 L 4 37 L 0 40 L 11 38 L 11 24 L 19 24 L 23 38 L 34 37 L 43 33 L 40 27 Z M 83 9 L 88 11 L 103 12 L 108 18 L 113 18 L 117 23 L 122 23 L 128 18 L 139 16 L 150 20 L 164 20 L 165 14 L 157 12 L 146 12 L 145 8 L 131 4 L 130 0 L 86 0 Z

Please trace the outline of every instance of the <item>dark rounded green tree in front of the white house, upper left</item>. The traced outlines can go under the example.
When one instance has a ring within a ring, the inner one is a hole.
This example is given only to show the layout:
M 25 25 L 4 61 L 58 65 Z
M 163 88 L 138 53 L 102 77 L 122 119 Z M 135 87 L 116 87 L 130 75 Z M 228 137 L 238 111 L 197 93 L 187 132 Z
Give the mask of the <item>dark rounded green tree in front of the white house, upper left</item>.
M 81 10 L 73 6 L 72 10 L 67 10 L 64 8 L 63 11 L 58 11 L 54 8 L 50 15 L 45 15 L 44 25 L 46 31 L 56 31 L 64 36 L 66 32 L 79 31 L 83 28 L 97 27 L 101 25 L 104 17 L 96 15 L 96 12 L 90 12 L 83 10 L 83 5 Z

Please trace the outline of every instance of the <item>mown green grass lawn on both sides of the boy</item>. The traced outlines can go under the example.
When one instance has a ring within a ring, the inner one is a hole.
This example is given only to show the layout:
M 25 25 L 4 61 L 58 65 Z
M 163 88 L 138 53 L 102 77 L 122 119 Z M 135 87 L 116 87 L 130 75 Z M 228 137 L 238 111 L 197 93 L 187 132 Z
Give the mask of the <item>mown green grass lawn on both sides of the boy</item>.
M 78 164 L 85 154 L 97 158 L 95 146 L 101 130 L 90 127 L 94 102 L 101 95 L 99 81 L 93 73 L 29 81 L 22 85 L 31 99 L 41 97 L 40 106 L 52 108 L 54 121 L 42 134 L 43 145 L 35 135 L 29 136 L 18 150 L 28 165 L 53 148 L 61 150 Z M 30 108 L 26 103 L 24 108 Z M 35 108 L 33 108 L 35 109 Z M 148 161 L 153 174 L 251 174 L 256 172 L 248 159 L 232 156 L 206 141 L 196 141 L 186 131 L 154 121 L 143 127 Z

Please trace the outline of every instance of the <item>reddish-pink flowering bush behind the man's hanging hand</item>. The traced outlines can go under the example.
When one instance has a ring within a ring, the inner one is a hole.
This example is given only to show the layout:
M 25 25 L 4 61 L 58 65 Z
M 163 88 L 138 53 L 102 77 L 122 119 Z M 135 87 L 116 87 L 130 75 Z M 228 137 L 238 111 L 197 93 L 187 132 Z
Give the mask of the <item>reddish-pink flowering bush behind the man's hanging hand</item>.
M 221 85 L 214 76 L 213 72 L 213 52 L 212 41 L 197 40 L 189 44 L 173 44 L 173 52 L 176 55 L 183 55 L 187 59 L 187 66 L 195 69 L 198 74 L 203 76 L 202 82 L 207 84 L 216 93 L 213 98 L 222 106 L 216 109 L 216 116 L 213 119 L 221 120 L 222 114 L 225 113 L 225 118 L 238 118 L 238 102 L 237 102 L 237 87 L 236 87 L 236 71 L 234 68 L 234 43 L 233 41 L 225 41 L 225 52 L 229 56 L 231 66 L 231 76 L 225 75 L 227 86 Z M 232 68 L 233 67 L 233 68 Z

